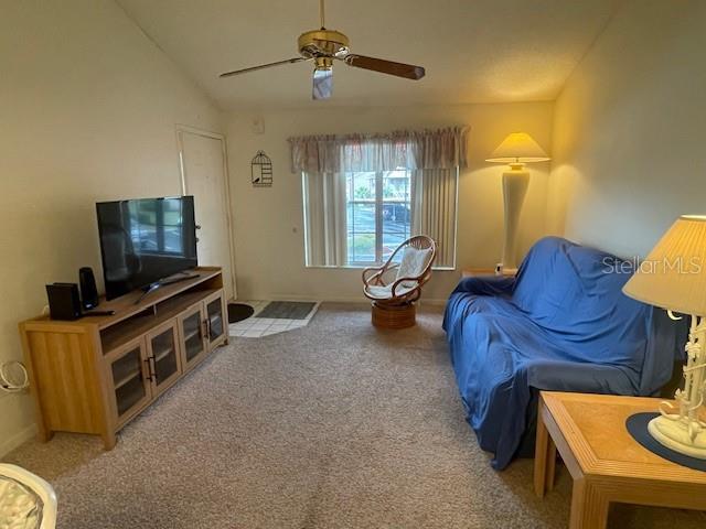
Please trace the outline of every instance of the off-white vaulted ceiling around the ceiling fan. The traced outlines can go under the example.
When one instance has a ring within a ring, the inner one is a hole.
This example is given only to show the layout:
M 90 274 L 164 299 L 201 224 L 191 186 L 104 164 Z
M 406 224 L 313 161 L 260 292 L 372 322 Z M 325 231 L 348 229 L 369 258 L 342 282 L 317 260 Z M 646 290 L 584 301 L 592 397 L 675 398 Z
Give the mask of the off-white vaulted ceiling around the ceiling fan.
M 351 50 L 425 66 L 411 82 L 336 63 L 331 100 L 311 101 L 311 64 L 226 79 L 297 56 L 318 0 L 116 0 L 223 109 L 553 100 L 619 0 L 328 0 Z

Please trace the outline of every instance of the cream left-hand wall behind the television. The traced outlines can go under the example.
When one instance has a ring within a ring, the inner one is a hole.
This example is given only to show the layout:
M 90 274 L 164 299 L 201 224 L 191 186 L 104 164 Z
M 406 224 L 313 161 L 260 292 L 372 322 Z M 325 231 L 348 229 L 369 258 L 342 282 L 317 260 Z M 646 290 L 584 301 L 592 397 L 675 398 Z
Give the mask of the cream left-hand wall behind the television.
M 0 14 L 0 360 L 44 284 L 100 271 L 94 203 L 180 193 L 175 123 L 220 115 L 111 0 L 9 0 Z M 0 455 L 33 431 L 0 392 Z

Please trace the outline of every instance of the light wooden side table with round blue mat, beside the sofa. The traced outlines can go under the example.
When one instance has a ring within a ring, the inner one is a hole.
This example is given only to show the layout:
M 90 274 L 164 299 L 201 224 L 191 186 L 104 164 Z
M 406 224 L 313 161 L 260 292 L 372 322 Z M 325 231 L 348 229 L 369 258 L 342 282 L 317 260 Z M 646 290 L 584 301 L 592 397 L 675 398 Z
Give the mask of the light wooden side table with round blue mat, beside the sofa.
M 660 399 L 542 391 L 534 488 L 554 485 L 556 451 L 574 479 L 570 529 L 603 529 L 612 501 L 706 510 L 706 472 L 663 460 L 625 429 Z

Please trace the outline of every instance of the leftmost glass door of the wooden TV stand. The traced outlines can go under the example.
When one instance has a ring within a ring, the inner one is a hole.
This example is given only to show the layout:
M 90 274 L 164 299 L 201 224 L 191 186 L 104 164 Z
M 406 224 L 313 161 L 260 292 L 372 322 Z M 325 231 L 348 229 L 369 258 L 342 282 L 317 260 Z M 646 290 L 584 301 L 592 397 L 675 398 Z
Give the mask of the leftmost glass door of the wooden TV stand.
M 117 421 L 122 422 L 149 401 L 149 364 L 143 341 L 127 344 L 111 353 L 110 381 L 115 395 Z

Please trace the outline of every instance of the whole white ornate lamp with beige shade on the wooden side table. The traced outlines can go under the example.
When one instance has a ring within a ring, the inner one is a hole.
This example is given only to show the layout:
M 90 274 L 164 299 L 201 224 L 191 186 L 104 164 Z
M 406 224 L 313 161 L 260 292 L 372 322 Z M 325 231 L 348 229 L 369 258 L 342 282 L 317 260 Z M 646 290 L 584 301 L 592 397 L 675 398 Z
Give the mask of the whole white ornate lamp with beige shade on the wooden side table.
M 680 217 L 622 290 L 673 319 L 674 312 L 691 315 L 684 389 L 675 404 L 662 402 L 648 429 L 667 449 L 706 460 L 706 422 L 699 418 L 706 398 L 706 216 Z

